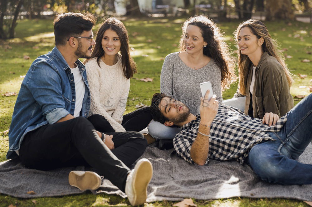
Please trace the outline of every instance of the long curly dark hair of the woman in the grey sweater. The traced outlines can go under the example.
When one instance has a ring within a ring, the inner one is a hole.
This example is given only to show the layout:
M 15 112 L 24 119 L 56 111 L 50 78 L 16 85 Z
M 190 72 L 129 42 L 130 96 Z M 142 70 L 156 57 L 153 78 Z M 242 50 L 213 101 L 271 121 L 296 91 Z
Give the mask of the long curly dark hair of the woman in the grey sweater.
M 202 31 L 202 37 L 207 42 L 203 53 L 212 58 L 221 70 L 222 90 L 228 89 L 232 82 L 236 81 L 237 76 L 234 73 L 235 60 L 231 56 L 228 44 L 222 39 L 223 33 L 220 32 L 217 25 L 207 16 L 193 16 L 186 20 L 182 26 L 183 33 L 180 39 L 180 50 L 186 51 L 184 45 L 185 31 L 188 25 L 194 25 Z

